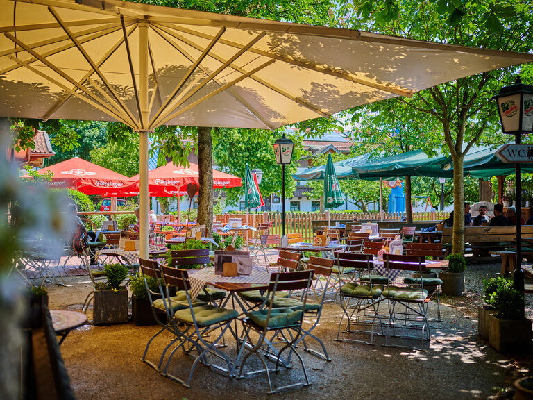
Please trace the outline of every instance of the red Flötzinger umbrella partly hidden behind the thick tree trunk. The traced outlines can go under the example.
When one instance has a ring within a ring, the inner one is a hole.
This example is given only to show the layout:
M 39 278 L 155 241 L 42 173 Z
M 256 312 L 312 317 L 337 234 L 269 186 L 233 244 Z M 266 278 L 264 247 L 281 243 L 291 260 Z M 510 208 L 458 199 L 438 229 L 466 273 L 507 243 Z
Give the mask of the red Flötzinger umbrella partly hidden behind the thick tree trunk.
M 138 183 L 139 175 L 133 176 L 132 179 L 136 179 Z M 185 190 L 189 183 L 200 185 L 197 164 L 190 163 L 189 167 L 184 167 L 170 162 L 148 172 L 150 196 L 171 197 L 177 195 L 178 190 Z M 236 186 L 242 186 L 241 178 L 213 169 L 214 189 L 235 188 Z

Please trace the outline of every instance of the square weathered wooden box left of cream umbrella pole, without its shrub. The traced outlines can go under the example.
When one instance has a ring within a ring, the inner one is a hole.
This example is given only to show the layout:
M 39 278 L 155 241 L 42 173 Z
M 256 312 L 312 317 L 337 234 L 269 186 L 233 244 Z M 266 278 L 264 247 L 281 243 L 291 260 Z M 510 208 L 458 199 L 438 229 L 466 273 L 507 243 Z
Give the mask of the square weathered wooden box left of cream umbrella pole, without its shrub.
M 96 290 L 92 319 L 94 325 L 128 322 L 128 290 Z

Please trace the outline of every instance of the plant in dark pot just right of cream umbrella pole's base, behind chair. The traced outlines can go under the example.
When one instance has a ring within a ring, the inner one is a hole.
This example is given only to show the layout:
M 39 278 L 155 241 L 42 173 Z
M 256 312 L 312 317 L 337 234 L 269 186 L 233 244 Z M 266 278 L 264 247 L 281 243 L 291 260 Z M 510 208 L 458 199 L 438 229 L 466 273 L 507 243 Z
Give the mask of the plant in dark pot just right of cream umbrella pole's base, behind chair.
M 154 292 L 151 294 L 152 300 L 160 299 L 158 280 L 152 276 L 147 276 L 146 281 L 150 290 Z M 146 292 L 146 285 L 144 285 L 144 276 L 142 274 L 137 273 L 131 278 L 130 289 L 131 315 L 135 326 L 157 324 L 158 322 L 155 321 L 153 316 L 152 306 L 148 298 L 148 293 Z M 164 313 L 161 313 L 161 317 L 164 319 Z

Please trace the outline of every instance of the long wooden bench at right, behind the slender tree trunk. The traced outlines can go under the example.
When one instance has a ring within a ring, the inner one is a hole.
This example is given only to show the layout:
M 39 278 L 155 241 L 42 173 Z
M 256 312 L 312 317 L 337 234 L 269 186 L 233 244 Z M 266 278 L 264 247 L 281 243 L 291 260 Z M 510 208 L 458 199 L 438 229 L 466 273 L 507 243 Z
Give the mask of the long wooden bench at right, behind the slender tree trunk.
M 443 228 L 442 244 L 446 255 L 450 252 L 453 228 Z M 522 235 L 533 236 L 533 225 L 523 225 Z M 474 255 L 482 250 L 503 250 L 516 247 L 516 226 L 466 226 L 464 228 L 465 248 L 471 249 Z

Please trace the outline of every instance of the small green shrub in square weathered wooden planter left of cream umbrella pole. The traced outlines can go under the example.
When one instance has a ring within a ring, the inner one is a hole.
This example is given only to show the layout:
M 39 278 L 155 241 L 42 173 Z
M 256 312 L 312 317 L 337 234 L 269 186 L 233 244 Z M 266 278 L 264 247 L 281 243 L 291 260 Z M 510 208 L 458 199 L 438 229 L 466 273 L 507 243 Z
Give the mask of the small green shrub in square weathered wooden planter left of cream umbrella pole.
M 94 285 L 93 323 L 124 324 L 128 322 L 128 290 L 121 283 L 128 276 L 128 268 L 117 263 L 104 269 L 107 281 Z

